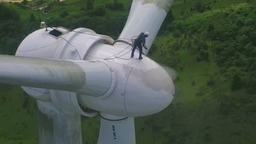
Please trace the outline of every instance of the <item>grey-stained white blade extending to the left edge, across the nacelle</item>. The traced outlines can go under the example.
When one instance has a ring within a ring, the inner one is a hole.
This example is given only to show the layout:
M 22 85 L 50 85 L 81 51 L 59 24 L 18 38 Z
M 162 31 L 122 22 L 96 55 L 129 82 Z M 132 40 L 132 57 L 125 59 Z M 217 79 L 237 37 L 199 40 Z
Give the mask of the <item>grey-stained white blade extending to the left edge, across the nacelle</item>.
M 0 83 L 83 93 L 105 94 L 110 68 L 100 61 L 69 61 L 0 55 Z

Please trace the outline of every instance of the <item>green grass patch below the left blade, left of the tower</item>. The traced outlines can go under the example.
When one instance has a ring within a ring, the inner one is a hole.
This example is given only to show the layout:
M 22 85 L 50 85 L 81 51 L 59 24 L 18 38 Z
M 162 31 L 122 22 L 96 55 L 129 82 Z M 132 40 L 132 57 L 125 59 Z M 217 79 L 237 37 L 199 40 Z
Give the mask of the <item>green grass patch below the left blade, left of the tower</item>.
M 36 143 L 36 101 L 19 86 L 0 85 L 0 143 Z

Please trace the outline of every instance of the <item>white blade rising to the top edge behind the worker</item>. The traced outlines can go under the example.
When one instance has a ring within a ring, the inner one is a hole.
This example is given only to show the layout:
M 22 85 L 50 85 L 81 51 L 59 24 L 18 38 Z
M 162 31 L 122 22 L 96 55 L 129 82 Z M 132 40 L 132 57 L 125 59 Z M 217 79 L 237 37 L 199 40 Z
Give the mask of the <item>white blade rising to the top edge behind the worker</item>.
M 149 50 L 173 2 L 174 0 L 134 0 L 119 39 L 131 39 L 148 31 L 150 36 L 146 38 L 146 45 Z M 144 49 L 143 52 L 148 53 Z

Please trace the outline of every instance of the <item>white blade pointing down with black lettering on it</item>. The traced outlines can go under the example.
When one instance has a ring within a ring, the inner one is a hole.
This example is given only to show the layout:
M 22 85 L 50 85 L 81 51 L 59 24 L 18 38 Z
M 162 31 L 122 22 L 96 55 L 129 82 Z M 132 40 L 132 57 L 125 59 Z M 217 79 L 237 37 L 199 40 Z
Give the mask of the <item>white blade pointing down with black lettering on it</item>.
M 101 117 L 98 144 L 135 144 L 134 118 L 108 120 Z

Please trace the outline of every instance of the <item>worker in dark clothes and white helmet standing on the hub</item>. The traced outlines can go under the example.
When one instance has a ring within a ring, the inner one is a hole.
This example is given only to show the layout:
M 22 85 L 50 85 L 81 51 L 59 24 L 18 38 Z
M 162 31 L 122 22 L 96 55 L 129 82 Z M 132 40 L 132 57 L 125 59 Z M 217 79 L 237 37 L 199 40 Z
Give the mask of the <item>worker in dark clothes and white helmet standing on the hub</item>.
M 145 34 L 142 32 L 140 33 L 140 35 L 135 39 L 135 42 L 134 42 L 134 46 L 133 46 L 133 49 L 132 49 L 132 55 L 131 55 L 131 58 L 133 58 L 134 56 L 134 51 L 135 49 L 137 48 L 137 46 L 139 47 L 139 50 L 140 50 L 140 56 L 139 56 L 139 60 L 142 59 L 141 57 L 141 54 L 142 54 L 142 46 L 148 50 L 147 46 L 146 46 L 146 37 L 149 36 L 149 33 L 146 32 Z

